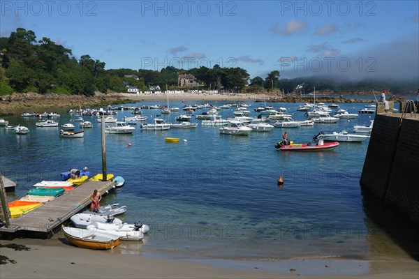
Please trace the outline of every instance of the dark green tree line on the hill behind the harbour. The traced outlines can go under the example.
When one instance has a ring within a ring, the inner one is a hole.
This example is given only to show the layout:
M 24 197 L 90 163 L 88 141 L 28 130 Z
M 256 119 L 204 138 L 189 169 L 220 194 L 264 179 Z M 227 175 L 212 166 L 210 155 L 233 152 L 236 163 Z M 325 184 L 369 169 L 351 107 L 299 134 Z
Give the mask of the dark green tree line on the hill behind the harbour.
M 196 85 L 179 87 L 178 77 L 191 74 Z M 284 93 L 309 93 L 319 91 L 357 93 L 371 89 L 392 89 L 395 93 L 416 90 L 417 82 L 337 82 L 335 80 L 304 77 L 279 79 L 278 70 L 272 70 L 265 79 L 249 78 L 247 70 L 201 66 L 189 70 L 172 66 L 158 70 L 133 70 L 128 68 L 105 70 L 105 62 L 92 59 L 88 54 L 75 58 L 70 49 L 54 43 L 50 38 L 36 40 L 34 31 L 17 28 L 10 36 L 0 38 L 0 95 L 17 92 L 60 93 L 94 95 L 95 91 L 126 92 L 127 85 L 139 91 L 149 86 L 165 89 L 208 89 L 226 92 L 262 93 L 281 89 Z M 304 86 L 299 86 L 304 84 Z M 302 90 L 296 90 L 301 87 Z

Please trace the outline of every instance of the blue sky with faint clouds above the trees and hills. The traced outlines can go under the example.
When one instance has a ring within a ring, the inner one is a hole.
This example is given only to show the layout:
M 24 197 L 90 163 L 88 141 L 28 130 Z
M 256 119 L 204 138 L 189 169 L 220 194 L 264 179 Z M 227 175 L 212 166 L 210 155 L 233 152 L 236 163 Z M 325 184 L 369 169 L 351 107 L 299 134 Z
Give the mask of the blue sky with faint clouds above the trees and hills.
M 106 68 L 216 63 L 251 77 L 419 77 L 419 1 L 0 1 L 23 27 Z

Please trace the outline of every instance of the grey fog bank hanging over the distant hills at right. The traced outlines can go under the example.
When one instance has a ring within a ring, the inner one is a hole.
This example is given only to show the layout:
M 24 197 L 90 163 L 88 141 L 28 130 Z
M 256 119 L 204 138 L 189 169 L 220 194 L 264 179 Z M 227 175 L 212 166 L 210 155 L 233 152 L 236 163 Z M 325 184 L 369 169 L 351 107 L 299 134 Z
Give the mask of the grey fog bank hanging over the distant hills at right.
M 382 43 L 346 56 L 287 57 L 279 66 L 280 78 L 414 81 L 419 80 L 419 38 Z

